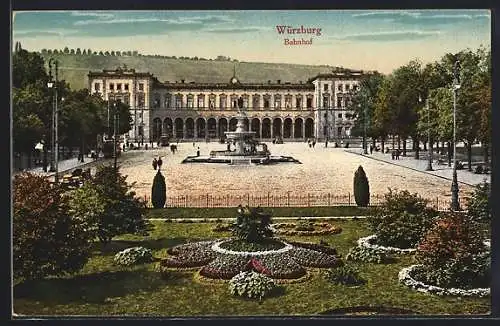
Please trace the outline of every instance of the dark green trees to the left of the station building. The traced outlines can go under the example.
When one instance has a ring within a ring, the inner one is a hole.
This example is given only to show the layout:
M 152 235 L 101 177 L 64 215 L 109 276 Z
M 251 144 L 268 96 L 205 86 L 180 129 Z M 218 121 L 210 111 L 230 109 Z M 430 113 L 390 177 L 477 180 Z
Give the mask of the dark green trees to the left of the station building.
M 35 145 L 42 142 L 46 144 L 44 156 L 47 156 L 55 100 L 54 88 L 47 87 L 50 79 L 47 67 L 47 62 L 38 53 L 26 51 L 16 44 L 12 74 L 14 153 L 30 156 Z M 64 80 L 59 80 L 56 87 L 59 147 L 79 148 L 84 153 L 86 148 L 96 146 L 98 135 L 107 131 L 108 103 L 99 95 L 91 95 L 87 89 L 70 89 Z M 119 112 L 119 133 L 128 132 L 132 123 L 129 106 L 118 103 L 109 107 Z M 113 116 L 114 112 L 110 114 Z

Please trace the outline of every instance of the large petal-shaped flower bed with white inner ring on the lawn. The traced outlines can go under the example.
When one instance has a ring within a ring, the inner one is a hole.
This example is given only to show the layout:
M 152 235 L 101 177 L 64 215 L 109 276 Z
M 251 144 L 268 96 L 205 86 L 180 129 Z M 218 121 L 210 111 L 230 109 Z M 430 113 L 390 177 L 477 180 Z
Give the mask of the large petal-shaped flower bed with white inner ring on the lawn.
M 290 244 L 273 239 L 271 248 L 279 244 L 280 249 L 235 251 L 224 248 L 237 241 L 218 239 L 179 245 L 167 251 L 173 257 L 162 260 L 161 266 L 202 267 L 200 275 L 211 279 L 228 280 L 242 271 L 255 271 L 273 279 L 298 279 L 307 274 L 304 267 L 328 268 L 340 263 L 334 248 L 313 243 Z

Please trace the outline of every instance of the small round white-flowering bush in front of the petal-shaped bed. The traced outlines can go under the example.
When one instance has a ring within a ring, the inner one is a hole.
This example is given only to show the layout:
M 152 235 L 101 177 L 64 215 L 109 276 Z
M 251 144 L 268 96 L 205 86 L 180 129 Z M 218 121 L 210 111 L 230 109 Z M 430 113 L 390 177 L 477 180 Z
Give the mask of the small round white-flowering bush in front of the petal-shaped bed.
M 253 271 L 240 272 L 229 281 L 229 291 L 232 295 L 250 299 L 262 300 L 275 289 L 273 280 Z

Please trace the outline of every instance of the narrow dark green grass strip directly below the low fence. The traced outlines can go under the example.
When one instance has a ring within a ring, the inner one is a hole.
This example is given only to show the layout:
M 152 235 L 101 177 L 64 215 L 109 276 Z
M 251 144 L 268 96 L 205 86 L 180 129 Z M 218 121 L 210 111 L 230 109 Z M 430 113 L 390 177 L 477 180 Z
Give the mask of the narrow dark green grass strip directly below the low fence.
M 366 216 L 370 208 L 356 206 L 331 207 L 263 207 L 272 216 L 306 217 L 306 216 Z M 233 218 L 236 207 L 226 208 L 160 208 L 148 209 L 146 218 Z

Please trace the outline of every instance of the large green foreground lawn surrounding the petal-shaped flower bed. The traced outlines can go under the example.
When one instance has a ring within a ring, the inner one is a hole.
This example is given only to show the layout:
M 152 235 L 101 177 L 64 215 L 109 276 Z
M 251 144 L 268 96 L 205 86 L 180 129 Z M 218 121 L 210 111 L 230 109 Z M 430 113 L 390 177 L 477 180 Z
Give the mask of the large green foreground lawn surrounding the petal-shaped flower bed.
M 323 237 L 287 237 L 289 240 L 327 241 L 344 257 L 356 240 L 370 234 L 363 221 L 336 221 L 343 231 Z M 484 314 L 490 299 L 439 297 L 399 284 L 399 270 L 412 264 L 402 257 L 393 264 L 356 264 L 368 283 L 347 287 L 329 283 L 318 270 L 309 269 L 306 282 L 284 285 L 284 294 L 262 303 L 233 297 L 227 282 L 201 283 L 196 272 L 179 271 L 168 280 L 155 271 L 157 263 L 134 267 L 112 264 L 113 255 L 141 245 L 155 257 L 166 257 L 166 248 L 187 241 L 229 235 L 212 231 L 214 223 L 153 222 L 146 237 L 125 235 L 104 249 L 96 244 L 93 256 L 81 272 L 18 284 L 14 287 L 14 311 L 23 315 L 128 315 L 128 316 L 224 316 L 316 315 L 352 306 L 405 308 L 420 314 Z

